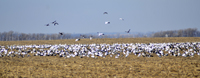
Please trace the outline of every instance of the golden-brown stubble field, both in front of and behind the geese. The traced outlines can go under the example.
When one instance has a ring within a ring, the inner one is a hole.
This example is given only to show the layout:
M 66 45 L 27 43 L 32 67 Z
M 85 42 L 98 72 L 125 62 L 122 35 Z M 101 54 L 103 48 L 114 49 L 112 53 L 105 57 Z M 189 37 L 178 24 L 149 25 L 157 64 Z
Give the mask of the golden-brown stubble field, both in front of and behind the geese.
M 179 38 L 119 38 L 38 41 L 0 41 L 0 45 L 24 44 L 91 44 L 91 43 L 167 43 L 200 42 L 199 37 Z M 58 56 L 25 58 L 0 58 L 0 77 L 44 77 L 44 78 L 133 78 L 133 77 L 197 77 L 200 78 L 200 56 L 194 57 L 137 57 L 128 58 L 69 58 Z

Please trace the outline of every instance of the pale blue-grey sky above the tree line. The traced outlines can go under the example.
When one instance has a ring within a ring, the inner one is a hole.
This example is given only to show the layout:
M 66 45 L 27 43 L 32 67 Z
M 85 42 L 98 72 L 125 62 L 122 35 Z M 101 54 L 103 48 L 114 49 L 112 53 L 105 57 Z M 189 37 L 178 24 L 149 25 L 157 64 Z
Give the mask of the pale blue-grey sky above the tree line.
M 59 25 L 45 26 L 55 20 Z M 186 28 L 200 30 L 200 0 L 0 0 L 0 32 L 151 32 Z

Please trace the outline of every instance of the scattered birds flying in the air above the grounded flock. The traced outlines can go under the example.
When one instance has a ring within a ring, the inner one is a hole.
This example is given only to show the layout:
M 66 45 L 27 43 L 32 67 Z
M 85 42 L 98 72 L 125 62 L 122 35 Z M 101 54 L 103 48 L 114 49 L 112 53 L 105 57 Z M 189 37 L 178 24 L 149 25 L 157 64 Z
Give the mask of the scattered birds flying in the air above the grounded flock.
M 107 15 L 108 12 L 104 12 L 103 14 Z M 124 21 L 123 18 L 119 18 L 119 20 Z M 53 22 L 51 22 L 51 23 L 46 24 L 46 26 L 50 26 L 50 24 L 53 24 L 54 26 L 59 25 L 58 22 L 56 22 L 56 20 L 53 21 Z M 106 21 L 105 24 L 110 24 L 110 21 Z M 130 33 L 130 30 L 131 30 L 131 29 L 129 29 L 128 31 L 125 31 L 125 32 L 126 32 L 126 33 Z M 59 34 L 60 34 L 60 35 L 63 35 L 62 32 L 59 32 Z M 105 34 L 102 33 L 102 32 L 97 32 L 97 34 L 98 34 L 98 36 L 103 36 L 103 35 L 105 35 Z M 80 35 L 80 37 L 81 37 L 81 38 L 85 38 L 84 35 Z M 93 36 L 90 36 L 90 40 L 92 40 L 92 37 L 93 37 Z M 79 41 L 79 40 L 80 40 L 80 38 L 76 39 L 75 41 Z

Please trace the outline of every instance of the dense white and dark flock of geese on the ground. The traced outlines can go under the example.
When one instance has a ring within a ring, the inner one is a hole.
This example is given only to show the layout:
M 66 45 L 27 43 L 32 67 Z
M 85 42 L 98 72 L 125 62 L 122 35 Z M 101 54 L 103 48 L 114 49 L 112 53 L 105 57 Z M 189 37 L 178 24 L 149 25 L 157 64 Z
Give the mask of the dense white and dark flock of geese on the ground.
M 200 56 L 200 42 L 186 43 L 113 43 L 113 44 L 43 44 L 0 46 L 0 57 L 28 58 L 127 58 L 127 57 L 194 57 Z M 129 56 L 133 55 L 133 56 Z

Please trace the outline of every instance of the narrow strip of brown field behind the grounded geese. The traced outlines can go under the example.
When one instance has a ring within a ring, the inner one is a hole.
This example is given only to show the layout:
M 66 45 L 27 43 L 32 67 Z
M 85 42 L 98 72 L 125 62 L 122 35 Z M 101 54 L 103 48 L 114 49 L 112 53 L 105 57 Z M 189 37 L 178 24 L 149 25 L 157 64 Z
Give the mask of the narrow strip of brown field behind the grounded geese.
M 168 43 L 168 42 L 200 42 L 200 37 L 169 37 L 169 38 L 104 38 L 104 39 L 75 39 L 66 40 L 34 40 L 34 41 L 0 41 L 0 45 L 30 45 L 30 44 L 92 44 L 92 43 Z

